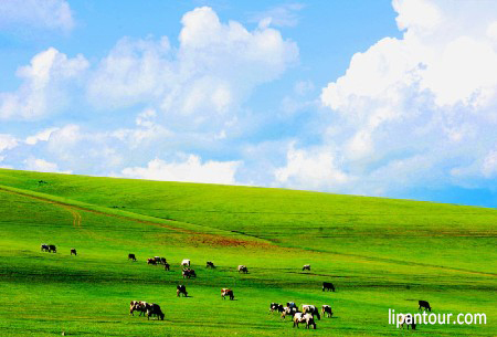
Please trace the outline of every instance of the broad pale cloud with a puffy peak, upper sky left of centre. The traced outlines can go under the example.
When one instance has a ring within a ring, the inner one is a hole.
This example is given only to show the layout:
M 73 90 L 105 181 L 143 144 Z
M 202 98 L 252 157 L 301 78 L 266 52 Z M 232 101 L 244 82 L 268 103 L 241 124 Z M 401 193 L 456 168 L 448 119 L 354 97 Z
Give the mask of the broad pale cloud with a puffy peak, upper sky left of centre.
M 298 60 L 296 44 L 277 30 L 223 23 L 208 7 L 181 23 L 176 49 L 167 38 L 119 41 L 92 76 L 88 99 L 101 108 L 152 104 L 170 124 L 215 127 L 232 123 L 255 86 Z

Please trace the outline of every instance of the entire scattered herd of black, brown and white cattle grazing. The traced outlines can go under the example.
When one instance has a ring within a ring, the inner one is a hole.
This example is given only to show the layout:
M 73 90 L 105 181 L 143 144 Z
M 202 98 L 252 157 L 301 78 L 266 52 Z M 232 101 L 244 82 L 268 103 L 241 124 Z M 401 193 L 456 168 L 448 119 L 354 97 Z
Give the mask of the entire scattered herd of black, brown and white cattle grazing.
M 41 244 L 41 251 L 42 252 L 49 252 L 49 253 L 56 253 L 56 246 L 54 244 Z M 76 249 L 71 249 L 71 255 L 77 255 Z M 136 255 L 133 253 L 128 254 L 128 261 L 131 260 L 133 262 L 136 262 Z M 163 265 L 166 271 L 170 270 L 170 264 L 167 262 L 166 257 L 161 256 L 154 256 L 147 259 L 147 264 L 149 265 Z M 195 271 L 190 267 L 191 261 L 188 259 L 184 259 L 181 261 L 180 266 L 182 267 L 181 275 L 183 278 L 191 278 L 197 277 Z M 215 265 L 212 261 L 208 261 L 205 263 L 205 268 L 215 268 Z M 248 268 L 246 265 L 239 265 L 237 266 L 239 273 L 248 273 Z M 303 271 L 310 271 L 310 264 L 305 264 L 302 268 Z M 322 282 L 322 292 L 335 292 L 335 286 L 330 282 Z M 187 286 L 186 285 L 178 285 L 176 287 L 176 295 L 177 297 L 180 297 L 181 295 L 183 297 L 188 297 Z M 221 288 L 221 298 L 226 299 L 230 298 L 231 301 L 234 299 L 233 291 L 230 288 Z M 430 303 L 426 301 L 419 301 L 419 310 L 432 310 L 432 307 L 430 306 Z M 129 315 L 135 316 L 135 312 L 139 313 L 139 316 L 144 315 L 147 316 L 147 319 L 150 319 L 150 317 L 156 317 L 157 319 L 163 320 L 165 314 L 162 313 L 160 306 L 155 303 L 148 303 L 145 301 L 131 301 L 129 304 Z M 318 309 L 317 306 L 310 305 L 310 304 L 303 304 L 300 307 L 295 304 L 295 302 L 287 302 L 286 305 L 278 304 L 278 303 L 271 303 L 269 305 L 269 314 L 271 313 L 279 313 L 281 317 L 283 319 L 286 318 L 286 316 L 292 317 L 293 326 L 298 328 L 299 324 L 305 324 L 306 329 L 314 328 L 316 329 L 316 319 L 321 319 L 322 317 L 331 318 L 334 315 L 334 312 L 331 310 L 331 306 L 328 304 L 324 304 L 321 306 L 321 310 Z M 401 318 L 403 322 L 401 322 L 402 328 L 404 326 L 404 320 L 406 320 L 406 317 Z M 415 329 L 415 324 L 410 324 L 412 329 Z M 408 325 L 409 329 L 409 325 Z

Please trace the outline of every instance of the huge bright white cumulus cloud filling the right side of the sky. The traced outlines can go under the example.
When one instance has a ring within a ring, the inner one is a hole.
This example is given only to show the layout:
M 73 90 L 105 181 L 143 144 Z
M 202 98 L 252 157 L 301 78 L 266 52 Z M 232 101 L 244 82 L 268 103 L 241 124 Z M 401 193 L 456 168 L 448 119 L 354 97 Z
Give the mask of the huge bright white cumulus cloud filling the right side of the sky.
M 334 114 L 324 145 L 289 149 L 276 180 L 299 187 L 315 177 L 297 165 L 309 158 L 355 177 L 345 186 L 358 193 L 495 176 L 497 4 L 394 0 L 393 8 L 403 36 L 355 54 L 322 89 Z

